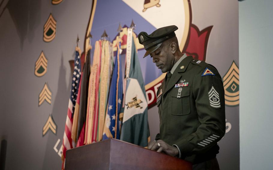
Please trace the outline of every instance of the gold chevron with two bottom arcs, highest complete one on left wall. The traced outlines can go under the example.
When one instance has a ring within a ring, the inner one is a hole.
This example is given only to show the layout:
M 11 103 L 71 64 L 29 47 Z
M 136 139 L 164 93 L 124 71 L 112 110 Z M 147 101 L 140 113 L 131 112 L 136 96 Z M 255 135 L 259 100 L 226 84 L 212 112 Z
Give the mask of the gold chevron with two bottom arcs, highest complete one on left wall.
M 52 13 L 50 13 L 45 25 L 44 25 L 44 41 L 50 42 L 55 38 L 56 35 L 57 21 L 54 19 Z

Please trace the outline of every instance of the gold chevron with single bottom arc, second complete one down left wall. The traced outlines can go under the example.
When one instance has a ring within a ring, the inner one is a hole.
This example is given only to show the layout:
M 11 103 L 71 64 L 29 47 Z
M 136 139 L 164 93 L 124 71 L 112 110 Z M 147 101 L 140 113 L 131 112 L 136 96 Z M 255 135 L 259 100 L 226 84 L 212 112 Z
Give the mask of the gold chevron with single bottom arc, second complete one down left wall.
M 34 74 L 37 77 L 42 77 L 43 75 L 46 74 L 47 71 L 47 59 L 44 55 L 44 52 L 42 51 L 38 60 L 35 63 L 35 72 Z

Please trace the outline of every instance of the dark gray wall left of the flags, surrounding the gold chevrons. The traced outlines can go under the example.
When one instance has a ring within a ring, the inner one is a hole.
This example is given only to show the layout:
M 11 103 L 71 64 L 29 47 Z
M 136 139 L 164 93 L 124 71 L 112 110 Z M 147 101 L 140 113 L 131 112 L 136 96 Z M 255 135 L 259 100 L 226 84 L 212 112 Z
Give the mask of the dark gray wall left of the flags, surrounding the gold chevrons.
M 63 139 L 70 66 L 76 38 L 83 47 L 91 11 L 90 0 L 51 1 L 10 0 L 0 18 L 1 118 L 0 136 L 7 139 L 6 169 L 61 169 L 61 158 L 53 147 Z M 57 21 L 57 33 L 51 42 L 43 41 L 43 27 L 50 13 Z M 43 77 L 34 75 L 41 51 L 48 59 Z M 47 82 L 52 104 L 38 107 L 38 95 Z M 52 113 L 57 134 L 50 130 L 42 137 L 42 128 Z M 61 143 L 58 145 L 59 149 Z

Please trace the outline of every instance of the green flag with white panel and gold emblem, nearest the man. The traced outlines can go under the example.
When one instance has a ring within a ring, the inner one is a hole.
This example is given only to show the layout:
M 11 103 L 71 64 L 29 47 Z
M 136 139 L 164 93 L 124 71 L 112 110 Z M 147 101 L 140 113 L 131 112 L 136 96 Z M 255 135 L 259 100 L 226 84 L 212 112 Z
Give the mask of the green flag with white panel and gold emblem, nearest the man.
M 128 28 L 127 34 L 125 72 L 127 83 L 120 139 L 146 147 L 148 145 L 148 138 L 150 137 L 148 104 L 131 28 Z

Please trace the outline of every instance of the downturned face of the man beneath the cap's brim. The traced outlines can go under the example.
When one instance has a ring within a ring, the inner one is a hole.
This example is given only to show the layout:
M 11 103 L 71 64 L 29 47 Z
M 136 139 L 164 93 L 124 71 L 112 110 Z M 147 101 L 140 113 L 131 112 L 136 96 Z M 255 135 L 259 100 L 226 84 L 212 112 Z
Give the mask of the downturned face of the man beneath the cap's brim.
M 166 73 L 170 71 L 174 63 L 174 55 L 172 54 L 172 48 L 170 43 L 163 44 L 154 52 L 150 54 L 153 59 L 153 63 L 161 69 L 161 72 Z

